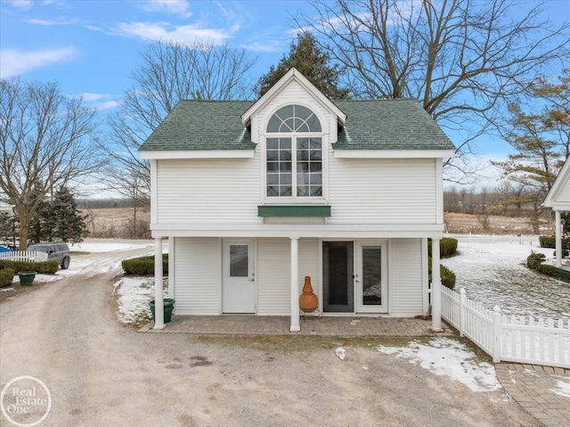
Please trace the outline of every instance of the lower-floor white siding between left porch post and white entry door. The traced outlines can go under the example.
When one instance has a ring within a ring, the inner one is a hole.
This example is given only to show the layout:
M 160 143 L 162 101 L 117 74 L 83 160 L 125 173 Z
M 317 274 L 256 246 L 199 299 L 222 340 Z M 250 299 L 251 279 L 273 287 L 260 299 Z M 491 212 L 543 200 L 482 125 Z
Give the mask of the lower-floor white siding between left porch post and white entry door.
M 175 238 L 177 315 L 219 315 L 222 289 L 219 239 Z

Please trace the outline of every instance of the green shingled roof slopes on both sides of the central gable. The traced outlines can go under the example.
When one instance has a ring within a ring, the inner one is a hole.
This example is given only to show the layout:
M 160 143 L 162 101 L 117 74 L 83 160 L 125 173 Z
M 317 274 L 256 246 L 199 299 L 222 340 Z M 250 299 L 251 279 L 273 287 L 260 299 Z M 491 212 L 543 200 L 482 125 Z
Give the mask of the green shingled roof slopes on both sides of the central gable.
M 335 101 L 346 113 L 335 150 L 453 150 L 414 99 Z M 251 101 L 181 101 L 141 146 L 143 151 L 253 150 L 241 115 Z

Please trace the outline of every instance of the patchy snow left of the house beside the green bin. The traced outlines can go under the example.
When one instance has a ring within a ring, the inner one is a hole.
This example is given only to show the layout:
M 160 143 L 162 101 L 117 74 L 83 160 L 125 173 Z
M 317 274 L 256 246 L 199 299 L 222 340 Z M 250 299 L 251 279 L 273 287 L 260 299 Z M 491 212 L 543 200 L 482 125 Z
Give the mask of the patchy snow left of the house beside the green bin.
M 167 298 L 168 279 L 164 279 Z M 151 320 L 149 302 L 154 300 L 154 277 L 123 277 L 115 283 L 118 316 L 123 324 L 141 324 Z

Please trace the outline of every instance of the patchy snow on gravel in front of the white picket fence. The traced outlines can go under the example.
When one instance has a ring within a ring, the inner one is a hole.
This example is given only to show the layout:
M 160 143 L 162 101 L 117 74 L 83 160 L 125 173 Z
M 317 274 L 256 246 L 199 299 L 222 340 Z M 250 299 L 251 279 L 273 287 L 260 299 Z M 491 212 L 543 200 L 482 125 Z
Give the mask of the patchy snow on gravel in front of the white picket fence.
M 411 341 L 408 347 L 379 346 L 379 352 L 392 354 L 419 364 L 436 375 L 447 375 L 473 391 L 500 390 L 495 368 L 486 362 L 476 362 L 476 355 L 464 344 L 449 338 L 436 338 L 429 345 Z

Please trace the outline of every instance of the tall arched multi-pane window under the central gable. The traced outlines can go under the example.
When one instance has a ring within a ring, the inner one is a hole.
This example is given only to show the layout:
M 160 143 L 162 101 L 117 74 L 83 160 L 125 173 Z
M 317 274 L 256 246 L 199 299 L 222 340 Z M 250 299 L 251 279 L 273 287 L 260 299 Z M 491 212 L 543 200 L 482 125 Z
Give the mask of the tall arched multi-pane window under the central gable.
M 267 124 L 267 197 L 322 197 L 321 122 L 302 105 L 287 105 Z

